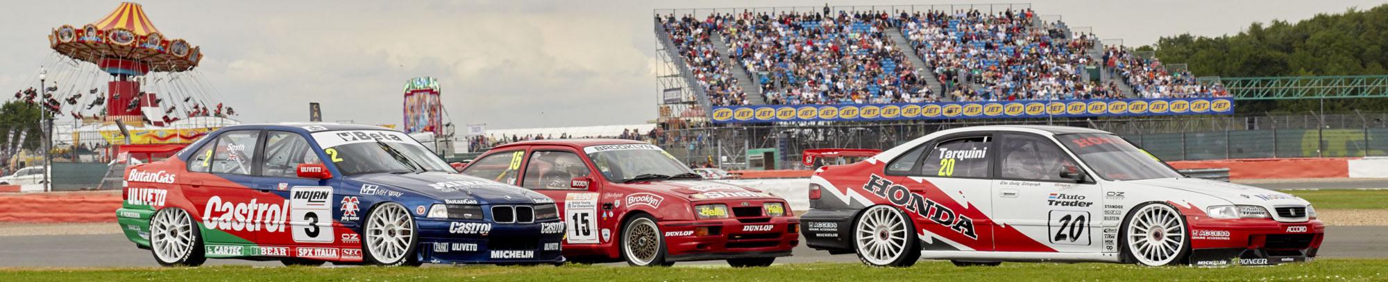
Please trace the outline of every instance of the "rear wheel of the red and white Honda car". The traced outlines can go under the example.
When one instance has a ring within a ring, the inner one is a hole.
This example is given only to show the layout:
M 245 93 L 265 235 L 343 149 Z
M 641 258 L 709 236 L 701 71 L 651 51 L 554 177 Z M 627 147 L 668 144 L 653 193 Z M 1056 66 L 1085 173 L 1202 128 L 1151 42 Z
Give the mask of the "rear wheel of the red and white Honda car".
M 911 267 L 920 258 L 920 245 L 912 236 L 915 227 L 901 210 L 872 206 L 854 223 L 854 247 L 858 260 L 873 267 Z

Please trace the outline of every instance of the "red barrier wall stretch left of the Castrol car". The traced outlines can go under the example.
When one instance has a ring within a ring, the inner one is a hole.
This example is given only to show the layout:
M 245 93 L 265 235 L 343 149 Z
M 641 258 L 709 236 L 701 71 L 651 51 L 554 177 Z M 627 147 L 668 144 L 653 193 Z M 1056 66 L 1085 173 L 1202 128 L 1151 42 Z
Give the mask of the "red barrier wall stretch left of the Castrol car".
M 0 223 L 114 223 L 121 191 L 0 194 Z

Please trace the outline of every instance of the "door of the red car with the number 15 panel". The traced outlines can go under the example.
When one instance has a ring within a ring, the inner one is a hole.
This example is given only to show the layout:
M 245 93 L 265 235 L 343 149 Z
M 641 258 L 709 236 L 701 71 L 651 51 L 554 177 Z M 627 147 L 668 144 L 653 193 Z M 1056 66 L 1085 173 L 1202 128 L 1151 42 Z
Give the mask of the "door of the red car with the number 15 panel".
M 605 227 L 611 207 L 601 210 L 597 181 L 591 181 L 587 163 L 577 153 L 562 147 L 537 147 L 525 162 L 520 187 L 554 199 L 565 221 L 564 243 L 595 245 L 600 227 Z M 579 178 L 576 181 L 576 178 Z M 583 180 L 586 178 L 586 180 Z

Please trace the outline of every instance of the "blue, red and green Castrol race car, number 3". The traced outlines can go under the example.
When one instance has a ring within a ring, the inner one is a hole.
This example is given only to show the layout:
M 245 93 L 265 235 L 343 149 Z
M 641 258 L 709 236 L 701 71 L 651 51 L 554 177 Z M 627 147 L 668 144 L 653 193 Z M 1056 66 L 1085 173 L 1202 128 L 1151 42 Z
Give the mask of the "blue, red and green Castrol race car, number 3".
M 122 196 L 121 229 L 162 265 L 564 263 L 554 200 L 458 174 L 384 127 L 223 127 L 128 167 Z

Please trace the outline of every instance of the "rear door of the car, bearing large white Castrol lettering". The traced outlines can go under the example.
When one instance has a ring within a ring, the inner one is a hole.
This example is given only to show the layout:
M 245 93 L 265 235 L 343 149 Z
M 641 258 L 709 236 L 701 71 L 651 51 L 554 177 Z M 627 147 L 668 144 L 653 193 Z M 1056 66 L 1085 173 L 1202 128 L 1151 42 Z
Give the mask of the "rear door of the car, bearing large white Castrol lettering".
M 179 176 L 208 242 L 254 243 L 260 232 L 283 231 L 285 198 L 251 188 L 260 137 L 260 130 L 221 133 L 194 151 Z

